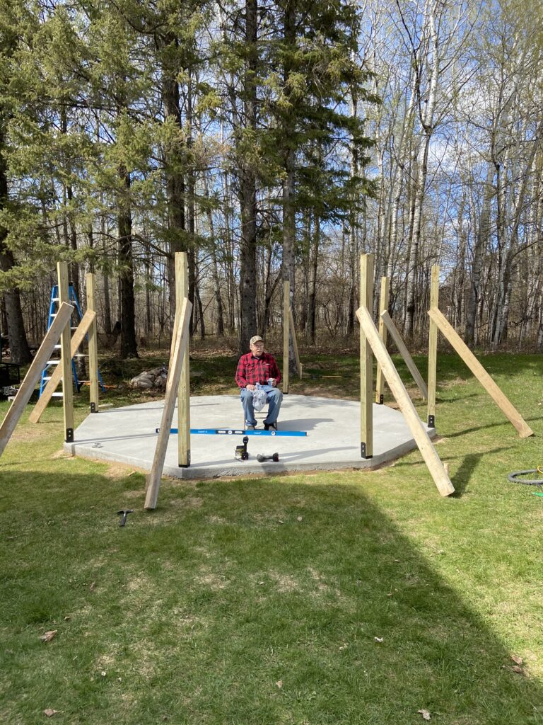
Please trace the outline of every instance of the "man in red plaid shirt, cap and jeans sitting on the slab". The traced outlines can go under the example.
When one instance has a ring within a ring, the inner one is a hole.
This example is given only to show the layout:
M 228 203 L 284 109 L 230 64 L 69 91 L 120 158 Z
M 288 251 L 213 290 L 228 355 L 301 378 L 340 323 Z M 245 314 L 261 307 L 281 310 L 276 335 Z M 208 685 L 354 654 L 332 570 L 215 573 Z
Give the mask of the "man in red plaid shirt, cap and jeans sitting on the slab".
M 264 430 L 267 431 L 269 428 L 277 428 L 277 416 L 283 399 L 283 394 L 277 387 L 281 382 L 281 373 L 274 356 L 264 352 L 264 340 L 260 335 L 251 337 L 249 347 L 251 352 L 240 357 L 236 370 L 236 383 L 241 388 L 245 428 L 248 431 L 256 428 L 253 391 L 259 383 L 266 392 L 266 403 L 269 403 L 268 415 L 264 421 Z

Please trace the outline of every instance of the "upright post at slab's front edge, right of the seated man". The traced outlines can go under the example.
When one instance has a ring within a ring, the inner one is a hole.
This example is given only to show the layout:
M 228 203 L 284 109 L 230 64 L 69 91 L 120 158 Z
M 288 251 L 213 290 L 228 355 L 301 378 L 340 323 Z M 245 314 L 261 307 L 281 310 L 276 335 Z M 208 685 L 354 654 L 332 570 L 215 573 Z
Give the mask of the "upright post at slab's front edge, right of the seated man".
M 360 257 L 360 306 L 373 309 L 374 255 Z M 360 328 L 360 452 L 363 458 L 374 455 L 373 357 L 366 334 Z

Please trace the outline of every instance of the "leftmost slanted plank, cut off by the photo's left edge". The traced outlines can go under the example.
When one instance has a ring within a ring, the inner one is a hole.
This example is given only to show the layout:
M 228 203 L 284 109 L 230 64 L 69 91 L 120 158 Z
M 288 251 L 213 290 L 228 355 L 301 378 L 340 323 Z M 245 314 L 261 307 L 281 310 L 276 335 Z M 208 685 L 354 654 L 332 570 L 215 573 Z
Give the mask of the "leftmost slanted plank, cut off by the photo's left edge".
M 34 388 L 41 377 L 41 371 L 45 368 L 49 357 L 51 357 L 64 327 L 70 323 L 70 317 L 72 316 L 73 310 L 74 308 L 72 305 L 68 305 L 67 302 L 63 302 L 59 307 L 59 311 L 56 313 L 56 318 L 53 320 L 53 324 L 47 331 L 46 336 L 43 338 L 43 342 L 41 343 L 38 352 L 36 352 L 30 368 L 28 368 L 28 373 L 25 375 L 25 379 L 22 381 L 20 388 L 17 391 L 17 395 L 15 396 L 6 417 L 0 426 L 0 455 L 4 452 L 15 426 L 17 426 L 17 423 L 25 410 L 25 405 L 27 405 L 30 400 L 30 397 L 34 392 Z

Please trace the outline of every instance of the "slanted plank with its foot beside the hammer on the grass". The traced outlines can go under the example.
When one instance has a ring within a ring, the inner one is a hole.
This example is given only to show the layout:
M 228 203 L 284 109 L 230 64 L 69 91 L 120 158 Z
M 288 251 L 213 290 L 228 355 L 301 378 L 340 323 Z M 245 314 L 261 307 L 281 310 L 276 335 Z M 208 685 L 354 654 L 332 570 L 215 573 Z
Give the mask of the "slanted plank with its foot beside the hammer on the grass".
M 149 473 L 146 480 L 145 508 L 147 509 L 156 508 L 156 502 L 159 498 L 160 480 L 168 447 L 169 429 L 172 427 L 172 419 L 174 417 L 175 399 L 177 398 L 177 391 L 179 389 L 183 355 L 185 355 L 185 349 L 188 343 L 188 326 L 192 308 L 193 306 L 190 304 L 188 297 L 185 297 L 180 312 L 179 326 L 177 331 L 174 331 L 176 333 L 174 335 L 174 353 L 169 361 L 166 397 L 164 399 L 164 410 L 162 411 L 160 422 L 159 439 L 156 442 L 151 473 Z

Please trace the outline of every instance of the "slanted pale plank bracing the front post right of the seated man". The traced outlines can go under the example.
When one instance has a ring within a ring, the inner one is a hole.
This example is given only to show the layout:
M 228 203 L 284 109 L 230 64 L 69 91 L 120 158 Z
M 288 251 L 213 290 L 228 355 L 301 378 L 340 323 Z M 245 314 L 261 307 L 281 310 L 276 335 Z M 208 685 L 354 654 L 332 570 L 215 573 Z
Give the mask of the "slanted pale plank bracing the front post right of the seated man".
M 364 334 L 366 334 L 366 338 L 369 340 L 369 344 L 371 344 L 379 365 L 381 365 L 390 391 L 395 397 L 397 404 L 400 406 L 405 422 L 408 424 L 411 434 L 418 446 L 418 450 L 420 450 L 421 455 L 424 458 L 424 463 L 426 463 L 430 475 L 432 476 L 432 479 L 434 479 L 434 484 L 436 484 L 437 489 L 442 496 L 450 496 L 450 494 L 454 493 L 454 486 L 452 486 L 449 476 L 445 473 L 445 468 L 443 467 L 441 460 L 439 460 L 437 451 L 435 450 L 432 441 L 429 439 L 426 428 L 424 428 L 424 425 L 418 417 L 415 407 L 411 402 L 411 398 L 408 396 L 408 393 L 403 386 L 403 382 L 398 375 L 394 363 L 392 363 L 390 355 L 387 352 L 387 348 L 384 347 L 383 341 L 379 337 L 379 333 L 374 325 L 374 321 L 371 319 L 371 315 L 366 307 L 361 307 L 356 311 L 356 316 L 360 321 Z

